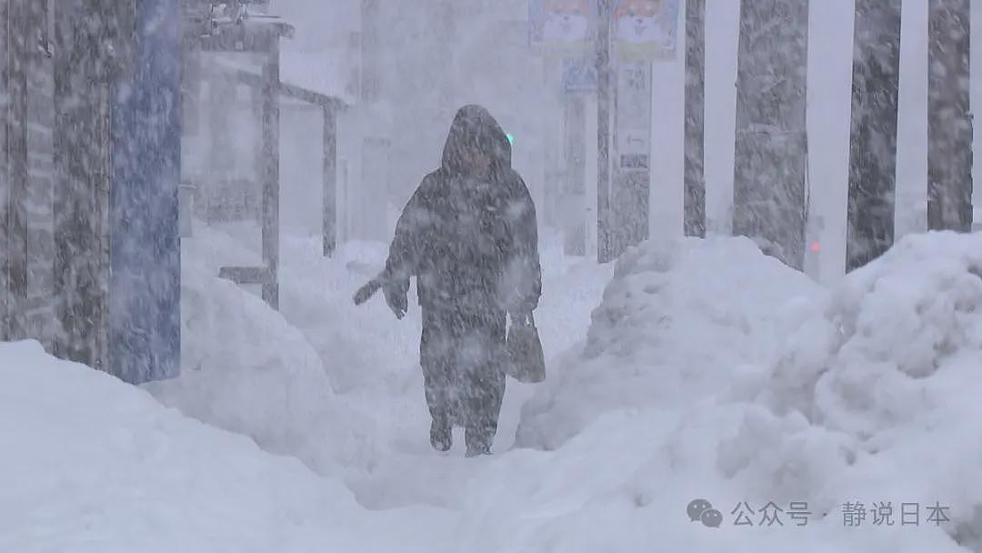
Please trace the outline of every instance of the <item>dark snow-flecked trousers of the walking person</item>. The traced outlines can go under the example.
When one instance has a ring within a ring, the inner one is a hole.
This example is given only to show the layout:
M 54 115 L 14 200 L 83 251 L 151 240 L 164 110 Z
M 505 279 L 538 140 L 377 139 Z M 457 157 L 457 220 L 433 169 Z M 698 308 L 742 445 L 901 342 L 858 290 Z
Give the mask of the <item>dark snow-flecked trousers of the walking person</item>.
M 505 321 L 505 311 L 497 307 L 423 309 L 419 360 L 426 404 L 434 420 L 464 426 L 470 449 L 489 448 L 498 430 L 505 396 Z

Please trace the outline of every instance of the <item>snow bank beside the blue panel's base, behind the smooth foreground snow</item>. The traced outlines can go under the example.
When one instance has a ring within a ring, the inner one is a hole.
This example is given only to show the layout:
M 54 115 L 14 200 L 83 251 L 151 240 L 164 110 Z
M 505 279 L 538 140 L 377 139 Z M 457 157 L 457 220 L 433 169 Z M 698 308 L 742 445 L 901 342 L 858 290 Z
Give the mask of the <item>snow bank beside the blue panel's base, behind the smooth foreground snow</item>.
M 299 329 L 256 294 L 217 277 L 220 264 L 247 262 L 242 251 L 222 250 L 224 258 L 211 249 L 185 255 L 182 374 L 145 388 L 185 415 L 323 473 L 366 463 L 377 454 L 372 422 L 338 399 Z

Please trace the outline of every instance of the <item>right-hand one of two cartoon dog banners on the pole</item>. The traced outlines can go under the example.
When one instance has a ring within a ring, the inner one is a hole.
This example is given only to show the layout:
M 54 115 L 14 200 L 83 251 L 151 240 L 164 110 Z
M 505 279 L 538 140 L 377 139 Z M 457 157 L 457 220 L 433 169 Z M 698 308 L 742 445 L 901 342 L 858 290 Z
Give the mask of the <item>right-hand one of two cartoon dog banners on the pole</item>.
M 678 15 L 679 0 L 620 0 L 614 10 L 619 57 L 671 58 Z

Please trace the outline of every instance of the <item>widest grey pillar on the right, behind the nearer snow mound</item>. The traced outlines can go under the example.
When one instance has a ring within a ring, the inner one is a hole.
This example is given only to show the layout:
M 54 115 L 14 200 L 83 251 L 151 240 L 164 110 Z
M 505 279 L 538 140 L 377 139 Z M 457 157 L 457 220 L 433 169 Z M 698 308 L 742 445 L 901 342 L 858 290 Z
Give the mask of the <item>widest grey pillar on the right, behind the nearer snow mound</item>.
M 734 234 L 804 264 L 808 0 L 741 0 Z

